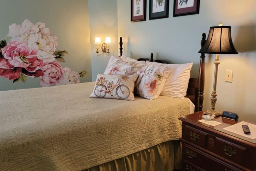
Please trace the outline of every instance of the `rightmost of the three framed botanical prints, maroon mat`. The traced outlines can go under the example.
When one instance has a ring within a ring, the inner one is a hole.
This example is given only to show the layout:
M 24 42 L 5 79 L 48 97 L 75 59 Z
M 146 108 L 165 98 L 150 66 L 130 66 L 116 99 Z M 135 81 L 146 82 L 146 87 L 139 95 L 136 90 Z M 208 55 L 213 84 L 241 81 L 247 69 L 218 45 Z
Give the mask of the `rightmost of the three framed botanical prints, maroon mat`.
M 200 0 L 174 0 L 173 16 L 199 14 Z

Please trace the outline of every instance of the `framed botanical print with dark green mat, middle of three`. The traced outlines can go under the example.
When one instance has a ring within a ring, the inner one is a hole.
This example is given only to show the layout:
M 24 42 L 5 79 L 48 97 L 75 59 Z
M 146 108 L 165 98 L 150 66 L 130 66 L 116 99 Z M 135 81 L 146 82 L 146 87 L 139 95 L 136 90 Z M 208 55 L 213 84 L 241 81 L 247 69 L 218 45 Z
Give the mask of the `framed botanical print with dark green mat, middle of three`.
M 149 0 L 149 19 L 168 17 L 169 0 Z

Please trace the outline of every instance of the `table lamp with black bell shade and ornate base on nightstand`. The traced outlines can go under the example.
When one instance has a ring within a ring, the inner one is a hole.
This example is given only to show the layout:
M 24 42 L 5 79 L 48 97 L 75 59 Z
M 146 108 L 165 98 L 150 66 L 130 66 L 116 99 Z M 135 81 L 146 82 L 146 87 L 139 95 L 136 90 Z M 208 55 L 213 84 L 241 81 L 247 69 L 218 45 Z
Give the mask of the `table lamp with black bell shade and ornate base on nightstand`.
M 215 110 L 218 65 L 220 64 L 219 56 L 220 54 L 238 54 L 232 42 L 231 26 L 223 26 L 220 22 L 219 26 L 210 27 L 208 38 L 198 53 L 216 54 L 211 109 L 204 112 L 206 115 L 216 117 L 221 115 L 219 111 Z

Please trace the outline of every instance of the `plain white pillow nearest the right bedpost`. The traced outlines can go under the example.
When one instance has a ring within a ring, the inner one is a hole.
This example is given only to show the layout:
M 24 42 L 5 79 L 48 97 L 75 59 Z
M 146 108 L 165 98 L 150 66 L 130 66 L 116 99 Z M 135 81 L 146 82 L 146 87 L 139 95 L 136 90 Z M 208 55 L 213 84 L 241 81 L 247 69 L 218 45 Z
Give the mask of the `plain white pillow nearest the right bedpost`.
M 152 64 L 159 65 L 159 63 L 156 62 L 152 62 Z M 192 65 L 193 63 L 164 64 L 164 66 L 172 67 L 172 71 L 168 76 L 160 95 L 183 99 L 187 94 Z

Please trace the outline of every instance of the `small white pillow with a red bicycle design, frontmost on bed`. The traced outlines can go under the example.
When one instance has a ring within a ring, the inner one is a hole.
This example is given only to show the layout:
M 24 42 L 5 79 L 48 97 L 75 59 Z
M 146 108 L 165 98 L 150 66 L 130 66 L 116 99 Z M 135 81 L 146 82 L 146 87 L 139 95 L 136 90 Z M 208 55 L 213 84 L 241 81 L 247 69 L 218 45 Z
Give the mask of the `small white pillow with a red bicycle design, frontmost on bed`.
M 137 78 L 137 74 L 130 76 L 98 74 L 95 87 L 90 97 L 133 101 L 134 82 Z

